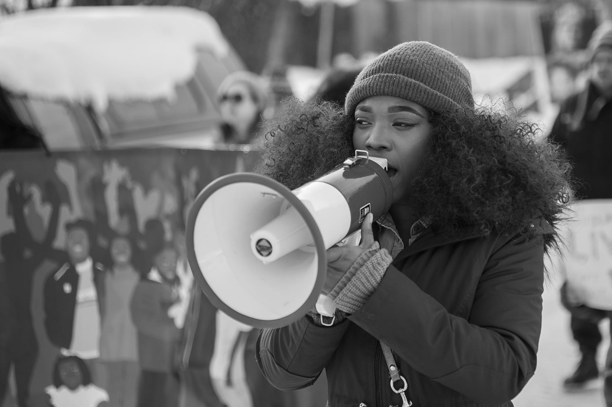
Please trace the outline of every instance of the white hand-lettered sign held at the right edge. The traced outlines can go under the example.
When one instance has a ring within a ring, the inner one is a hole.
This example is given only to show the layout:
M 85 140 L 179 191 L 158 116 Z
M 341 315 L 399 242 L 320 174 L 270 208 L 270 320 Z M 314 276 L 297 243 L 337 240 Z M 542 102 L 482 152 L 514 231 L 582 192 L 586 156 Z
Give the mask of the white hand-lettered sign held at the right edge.
M 583 200 L 574 210 L 562 260 L 568 289 L 589 307 L 612 310 L 612 199 Z

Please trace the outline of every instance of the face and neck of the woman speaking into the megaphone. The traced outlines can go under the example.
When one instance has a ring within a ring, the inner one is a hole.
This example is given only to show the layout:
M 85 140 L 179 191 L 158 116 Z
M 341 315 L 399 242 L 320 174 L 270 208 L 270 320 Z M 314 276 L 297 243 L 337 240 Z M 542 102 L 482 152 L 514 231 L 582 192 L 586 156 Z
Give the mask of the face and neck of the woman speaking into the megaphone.
M 371 96 L 355 109 L 353 145 L 387 159 L 393 203 L 406 202 L 431 142 L 427 109 L 395 96 Z

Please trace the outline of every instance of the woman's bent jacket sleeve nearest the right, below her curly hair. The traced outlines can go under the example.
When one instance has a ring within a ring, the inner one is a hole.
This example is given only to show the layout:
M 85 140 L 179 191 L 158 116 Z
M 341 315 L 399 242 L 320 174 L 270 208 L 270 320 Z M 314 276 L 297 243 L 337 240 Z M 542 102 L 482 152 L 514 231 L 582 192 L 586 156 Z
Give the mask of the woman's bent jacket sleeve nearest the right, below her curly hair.
M 500 239 L 480 276 L 468 320 L 449 314 L 393 266 L 349 320 L 428 378 L 477 403 L 499 405 L 534 374 L 542 292 L 542 240 Z M 381 318 L 388 310 L 401 320 Z

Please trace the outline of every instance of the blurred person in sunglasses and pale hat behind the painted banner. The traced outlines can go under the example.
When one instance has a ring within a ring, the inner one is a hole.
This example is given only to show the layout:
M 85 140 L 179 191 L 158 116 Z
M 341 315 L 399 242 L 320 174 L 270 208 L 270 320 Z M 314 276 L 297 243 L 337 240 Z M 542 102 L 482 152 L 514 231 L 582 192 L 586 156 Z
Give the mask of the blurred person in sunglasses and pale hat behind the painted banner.
M 217 90 L 222 117 L 218 142 L 250 144 L 268 106 L 269 86 L 264 78 L 248 71 L 228 75 Z

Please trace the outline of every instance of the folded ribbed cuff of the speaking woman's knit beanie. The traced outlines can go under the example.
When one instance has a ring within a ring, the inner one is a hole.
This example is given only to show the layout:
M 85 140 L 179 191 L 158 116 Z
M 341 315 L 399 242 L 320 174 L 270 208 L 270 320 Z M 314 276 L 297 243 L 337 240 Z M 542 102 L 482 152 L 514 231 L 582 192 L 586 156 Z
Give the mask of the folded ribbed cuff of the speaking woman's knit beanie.
M 472 110 L 473 106 L 461 106 L 437 90 L 419 81 L 395 73 L 378 73 L 356 82 L 346 94 L 345 113 L 353 115 L 357 104 L 371 96 L 396 96 L 435 112 L 452 112 L 457 109 Z

